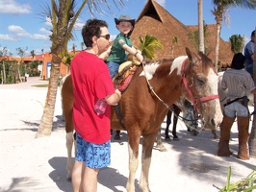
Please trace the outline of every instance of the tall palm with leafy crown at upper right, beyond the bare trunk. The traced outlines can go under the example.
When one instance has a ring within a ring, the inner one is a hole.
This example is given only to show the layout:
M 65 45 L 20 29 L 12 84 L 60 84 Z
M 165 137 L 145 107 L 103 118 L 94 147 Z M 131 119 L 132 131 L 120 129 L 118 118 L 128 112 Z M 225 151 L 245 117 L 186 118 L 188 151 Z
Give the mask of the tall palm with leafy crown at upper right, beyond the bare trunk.
M 229 7 L 241 6 L 249 9 L 256 9 L 255 0 L 213 0 L 214 11 L 213 14 L 216 17 L 217 22 L 217 37 L 216 37 L 216 66 L 218 67 L 218 48 L 219 48 L 219 35 L 221 29 L 221 23 L 226 17 L 226 12 Z

